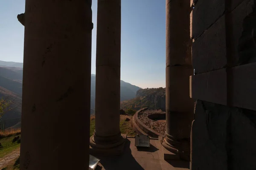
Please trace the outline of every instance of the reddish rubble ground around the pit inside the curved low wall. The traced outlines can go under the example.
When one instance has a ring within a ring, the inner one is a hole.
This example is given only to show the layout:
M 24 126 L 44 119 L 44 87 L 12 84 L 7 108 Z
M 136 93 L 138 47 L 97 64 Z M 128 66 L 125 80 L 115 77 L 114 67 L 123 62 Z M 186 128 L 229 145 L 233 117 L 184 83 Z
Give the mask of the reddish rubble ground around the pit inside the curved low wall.
M 141 113 L 138 114 L 138 118 L 140 119 L 141 122 L 143 122 L 146 126 L 149 128 L 157 131 L 158 133 L 164 135 L 165 130 L 166 130 L 166 122 L 165 121 L 155 121 L 151 120 L 148 118 L 148 115 L 151 114 L 165 114 L 165 112 L 161 110 L 146 110 L 142 111 Z

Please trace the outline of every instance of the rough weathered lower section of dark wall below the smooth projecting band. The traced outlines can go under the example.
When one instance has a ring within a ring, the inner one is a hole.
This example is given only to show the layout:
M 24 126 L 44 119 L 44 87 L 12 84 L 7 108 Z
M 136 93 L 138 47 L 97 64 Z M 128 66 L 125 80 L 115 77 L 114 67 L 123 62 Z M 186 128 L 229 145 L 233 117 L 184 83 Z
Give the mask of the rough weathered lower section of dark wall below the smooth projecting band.
M 256 112 L 198 100 L 191 170 L 254 170 Z

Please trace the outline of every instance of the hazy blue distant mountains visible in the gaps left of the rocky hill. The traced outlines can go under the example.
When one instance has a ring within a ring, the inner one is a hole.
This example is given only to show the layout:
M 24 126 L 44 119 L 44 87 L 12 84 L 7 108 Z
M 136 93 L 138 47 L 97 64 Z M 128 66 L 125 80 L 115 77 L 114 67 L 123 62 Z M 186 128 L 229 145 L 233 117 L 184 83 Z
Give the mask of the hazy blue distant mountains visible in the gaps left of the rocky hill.
M 0 98 L 13 101 L 12 110 L 2 119 L 18 118 L 21 115 L 23 63 L 0 61 Z M 91 114 L 95 108 L 96 75 L 91 75 Z M 140 87 L 120 81 L 120 101 L 133 99 Z

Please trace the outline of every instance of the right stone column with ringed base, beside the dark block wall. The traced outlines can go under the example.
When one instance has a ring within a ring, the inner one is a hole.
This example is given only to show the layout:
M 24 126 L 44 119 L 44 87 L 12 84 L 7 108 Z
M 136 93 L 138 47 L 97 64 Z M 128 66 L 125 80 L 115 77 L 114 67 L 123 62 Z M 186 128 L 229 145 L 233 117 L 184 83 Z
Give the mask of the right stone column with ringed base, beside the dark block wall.
M 193 75 L 189 23 L 190 1 L 166 0 L 166 133 L 163 146 L 189 160 L 194 102 L 189 97 Z

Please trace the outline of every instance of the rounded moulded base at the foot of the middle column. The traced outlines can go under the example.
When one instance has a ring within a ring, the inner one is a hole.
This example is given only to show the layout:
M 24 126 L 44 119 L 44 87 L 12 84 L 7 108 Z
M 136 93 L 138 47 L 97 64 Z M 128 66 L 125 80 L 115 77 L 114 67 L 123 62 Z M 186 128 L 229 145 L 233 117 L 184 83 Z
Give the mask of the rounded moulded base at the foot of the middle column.
M 101 141 L 100 143 L 95 142 L 94 135 L 90 137 L 90 149 L 91 155 L 99 156 L 118 156 L 121 155 L 125 147 L 126 134 L 121 134 L 119 140 L 115 143 L 106 143 Z

